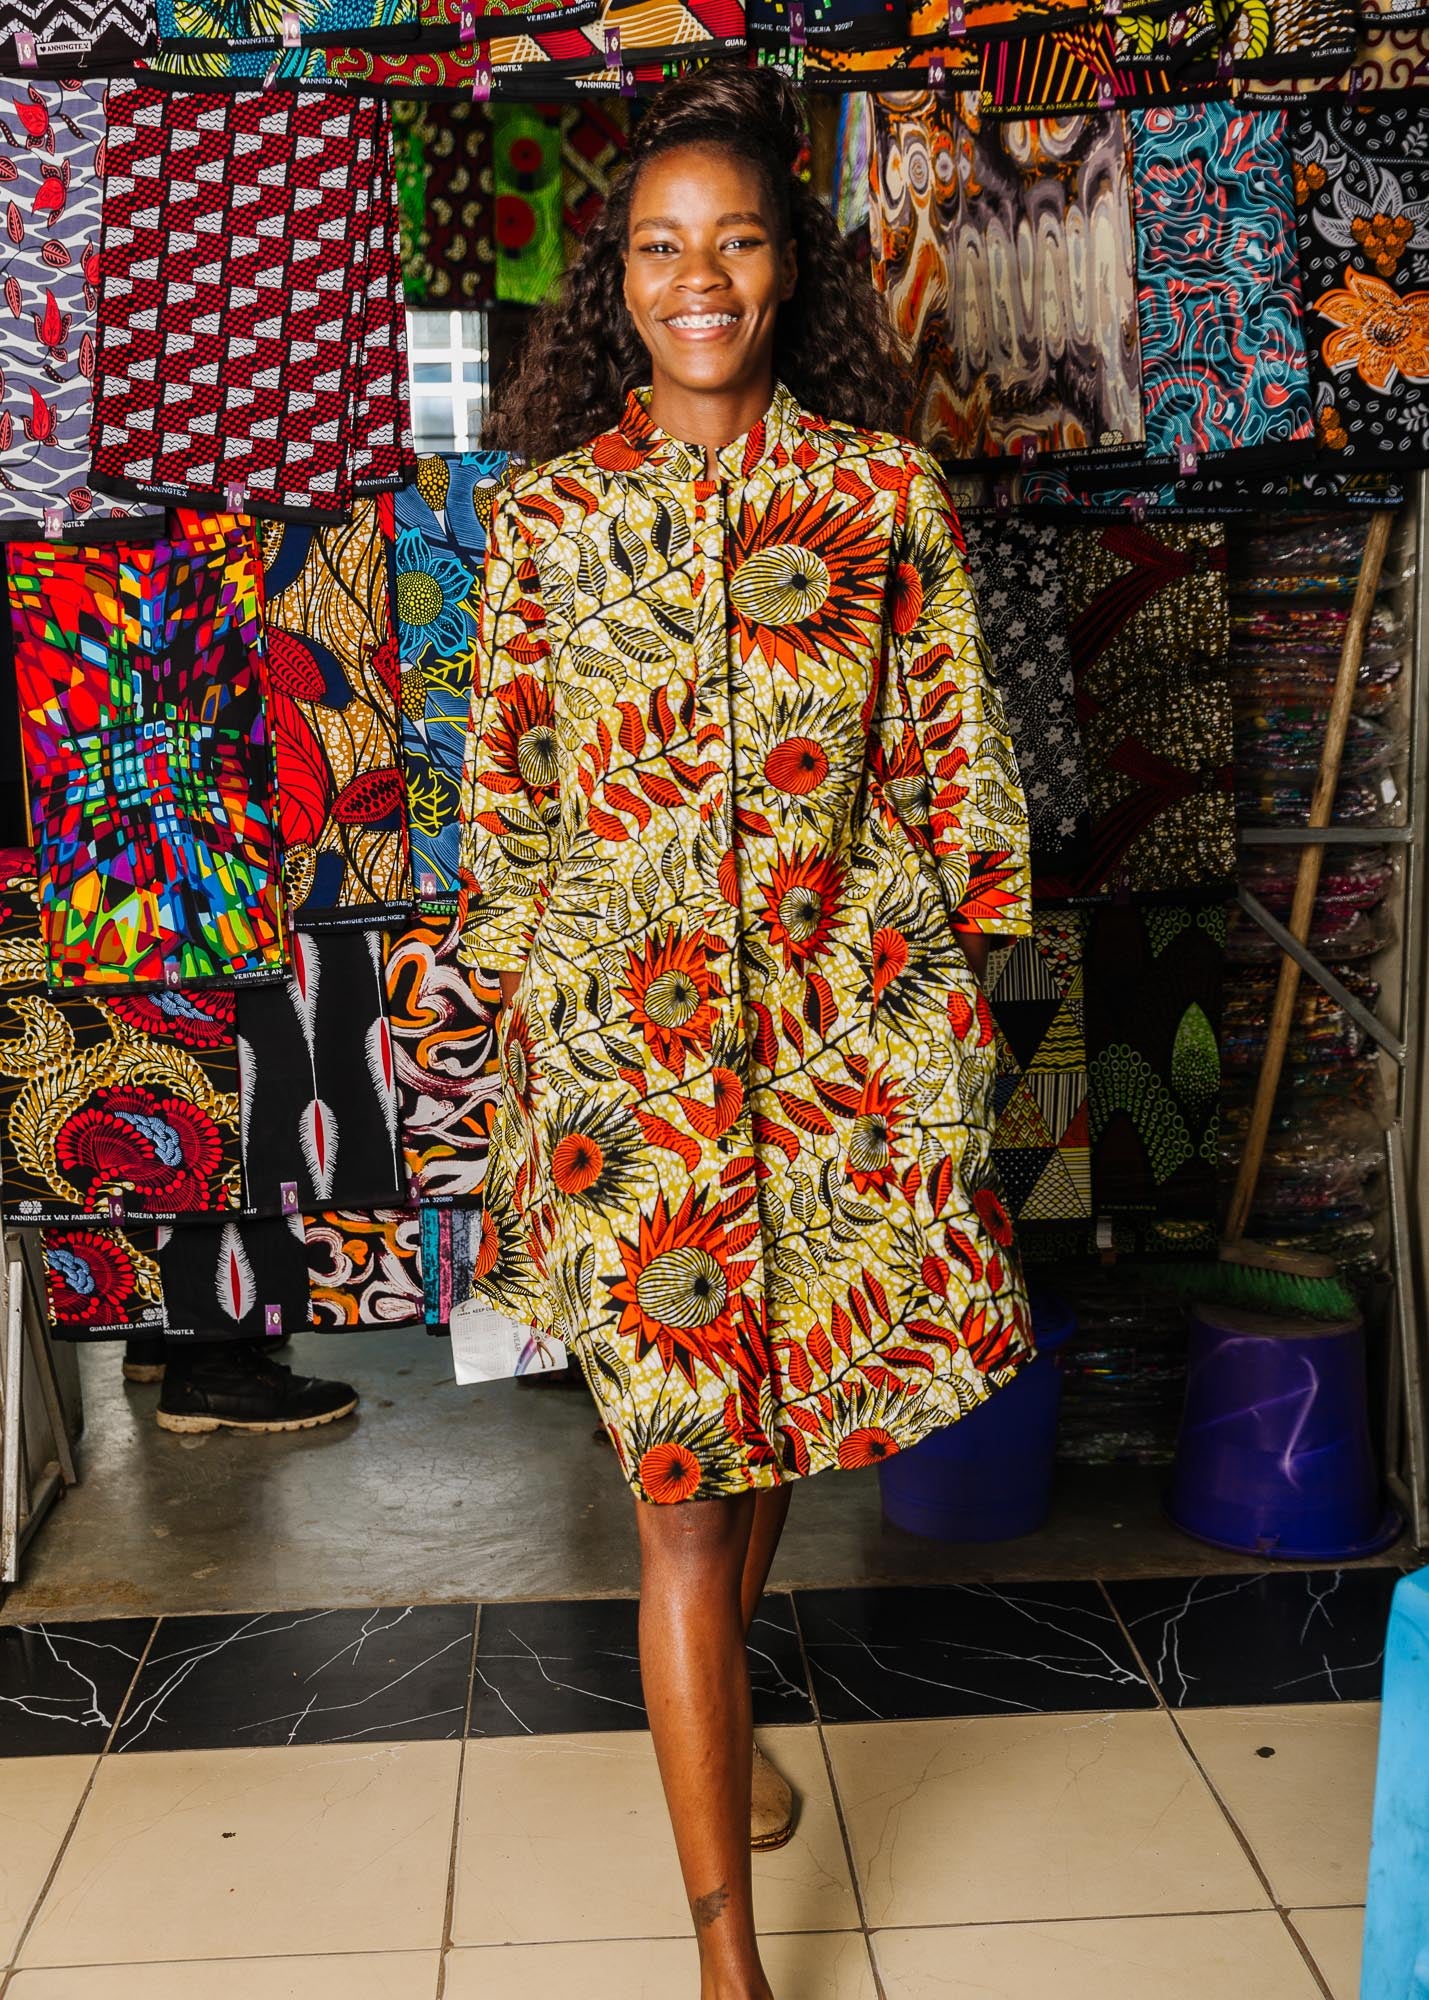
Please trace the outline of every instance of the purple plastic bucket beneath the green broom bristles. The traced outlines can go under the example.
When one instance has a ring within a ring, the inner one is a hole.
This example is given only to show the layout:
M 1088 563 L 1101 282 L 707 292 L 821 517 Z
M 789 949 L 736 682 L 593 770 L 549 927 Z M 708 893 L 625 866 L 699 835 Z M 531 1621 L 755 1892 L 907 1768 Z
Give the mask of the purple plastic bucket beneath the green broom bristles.
M 1401 1530 L 1379 1492 L 1359 1320 L 1195 1306 L 1167 1500 L 1199 1542 L 1345 1562 Z

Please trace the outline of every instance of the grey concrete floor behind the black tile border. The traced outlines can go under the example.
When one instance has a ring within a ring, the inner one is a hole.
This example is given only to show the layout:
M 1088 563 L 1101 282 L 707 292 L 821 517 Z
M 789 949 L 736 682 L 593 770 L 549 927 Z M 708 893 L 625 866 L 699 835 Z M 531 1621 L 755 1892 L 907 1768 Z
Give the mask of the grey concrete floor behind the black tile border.
M 630 1502 L 584 1392 L 458 1388 L 446 1342 L 420 1330 L 300 1334 L 286 1358 L 352 1380 L 356 1418 L 176 1438 L 154 1424 L 158 1390 L 122 1382 L 120 1352 L 82 1352 L 82 1484 L 32 1542 L 0 1622 L 636 1590 Z M 1067 1468 L 1041 1534 L 939 1544 L 883 1526 L 873 1472 L 825 1474 L 795 1494 L 773 1582 L 1263 1568 L 1169 1526 L 1161 1484 L 1137 1468 Z

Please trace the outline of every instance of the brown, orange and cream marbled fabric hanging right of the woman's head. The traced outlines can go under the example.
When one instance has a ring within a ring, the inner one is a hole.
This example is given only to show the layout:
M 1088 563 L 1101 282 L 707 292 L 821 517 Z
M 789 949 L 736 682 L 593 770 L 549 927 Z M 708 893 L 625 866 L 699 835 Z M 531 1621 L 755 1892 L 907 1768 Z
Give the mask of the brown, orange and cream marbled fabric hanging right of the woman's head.
M 875 270 L 915 362 L 917 434 L 971 462 L 1135 450 L 1121 114 L 999 124 L 967 92 L 881 100 L 877 150 Z M 1037 258 L 1013 282 L 1029 242 Z

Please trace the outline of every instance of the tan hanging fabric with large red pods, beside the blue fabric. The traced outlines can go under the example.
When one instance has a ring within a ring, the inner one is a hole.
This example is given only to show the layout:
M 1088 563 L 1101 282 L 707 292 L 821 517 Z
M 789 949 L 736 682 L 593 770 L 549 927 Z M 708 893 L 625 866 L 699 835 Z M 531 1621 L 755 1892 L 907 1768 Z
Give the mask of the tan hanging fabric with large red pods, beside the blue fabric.
M 284 878 L 308 928 L 380 924 L 412 900 L 390 544 L 390 500 L 258 536 Z

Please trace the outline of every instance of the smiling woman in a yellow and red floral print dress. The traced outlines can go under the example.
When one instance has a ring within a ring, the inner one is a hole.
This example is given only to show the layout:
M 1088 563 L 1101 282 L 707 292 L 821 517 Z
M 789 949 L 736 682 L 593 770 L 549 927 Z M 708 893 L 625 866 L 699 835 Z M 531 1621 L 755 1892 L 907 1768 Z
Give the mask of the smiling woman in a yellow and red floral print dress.
M 771 2000 L 745 1634 L 791 1486 L 1029 1352 L 975 968 L 1025 812 L 961 536 L 771 72 L 642 120 L 496 412 L 462 954 L 500 974 L 474 1314 L 580 1358 L 702 2000 Z

